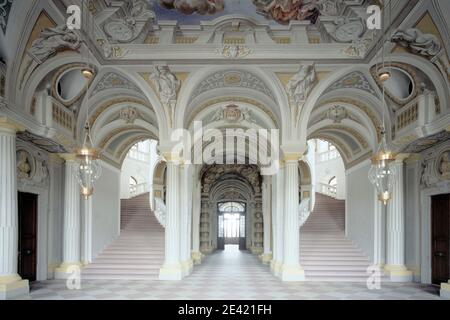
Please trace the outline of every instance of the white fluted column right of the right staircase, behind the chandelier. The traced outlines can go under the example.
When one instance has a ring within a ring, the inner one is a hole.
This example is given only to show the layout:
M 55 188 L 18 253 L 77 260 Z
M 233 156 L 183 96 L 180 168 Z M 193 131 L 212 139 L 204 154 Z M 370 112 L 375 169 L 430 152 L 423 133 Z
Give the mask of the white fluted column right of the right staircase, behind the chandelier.
M 395 184 L 392 199 L 388 203 L 386 217 L 386 265 L 384 271 L 391 281 L 412 281 L 412 272 L 405 266 L 405 199 L 403 161 L 407 155 L 400 154 L 392 164 L 395 168 Z

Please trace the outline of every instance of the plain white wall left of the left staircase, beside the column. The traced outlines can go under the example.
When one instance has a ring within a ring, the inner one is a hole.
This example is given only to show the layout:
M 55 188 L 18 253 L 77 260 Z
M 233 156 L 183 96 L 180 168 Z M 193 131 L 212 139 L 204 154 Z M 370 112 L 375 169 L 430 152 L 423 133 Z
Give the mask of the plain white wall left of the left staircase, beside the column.
M 118 235 L 120 229 L 120 170 L 102 162 L 102 175 L 92 196 L 92 257 Z

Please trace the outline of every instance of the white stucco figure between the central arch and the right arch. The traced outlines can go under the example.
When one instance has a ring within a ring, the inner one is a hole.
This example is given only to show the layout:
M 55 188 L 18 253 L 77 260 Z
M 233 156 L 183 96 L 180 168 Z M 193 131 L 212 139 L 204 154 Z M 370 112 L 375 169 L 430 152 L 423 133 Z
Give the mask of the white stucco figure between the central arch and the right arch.
M 299 105 L 308 97 L 316 81 L 315 65 L 301 65 L 299 71 L 289 80 L 286 92 L 291 102 Z

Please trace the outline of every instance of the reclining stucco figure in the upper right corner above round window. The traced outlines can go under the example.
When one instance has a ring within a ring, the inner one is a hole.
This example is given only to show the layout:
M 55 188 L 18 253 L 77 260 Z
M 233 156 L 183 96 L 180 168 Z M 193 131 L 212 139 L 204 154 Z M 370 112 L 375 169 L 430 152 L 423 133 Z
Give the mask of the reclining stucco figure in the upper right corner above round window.
M 391 41 L 422 56 L 434 57 L 441 51 L 441 43 L 436 36 L 415 28 L 397 31 Z

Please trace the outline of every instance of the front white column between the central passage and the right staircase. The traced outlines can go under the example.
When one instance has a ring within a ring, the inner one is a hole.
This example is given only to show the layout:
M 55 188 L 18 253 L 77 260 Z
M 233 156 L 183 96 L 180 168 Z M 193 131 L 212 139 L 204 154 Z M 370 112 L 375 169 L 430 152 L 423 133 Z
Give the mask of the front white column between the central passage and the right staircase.
M 281 267 L 282 281 L 304 281 L 305 272 L 300 266 L 300 230 L 298 221 L 298 161 L 300 154 L 285 156 L 284 204 L 284 259 Z

